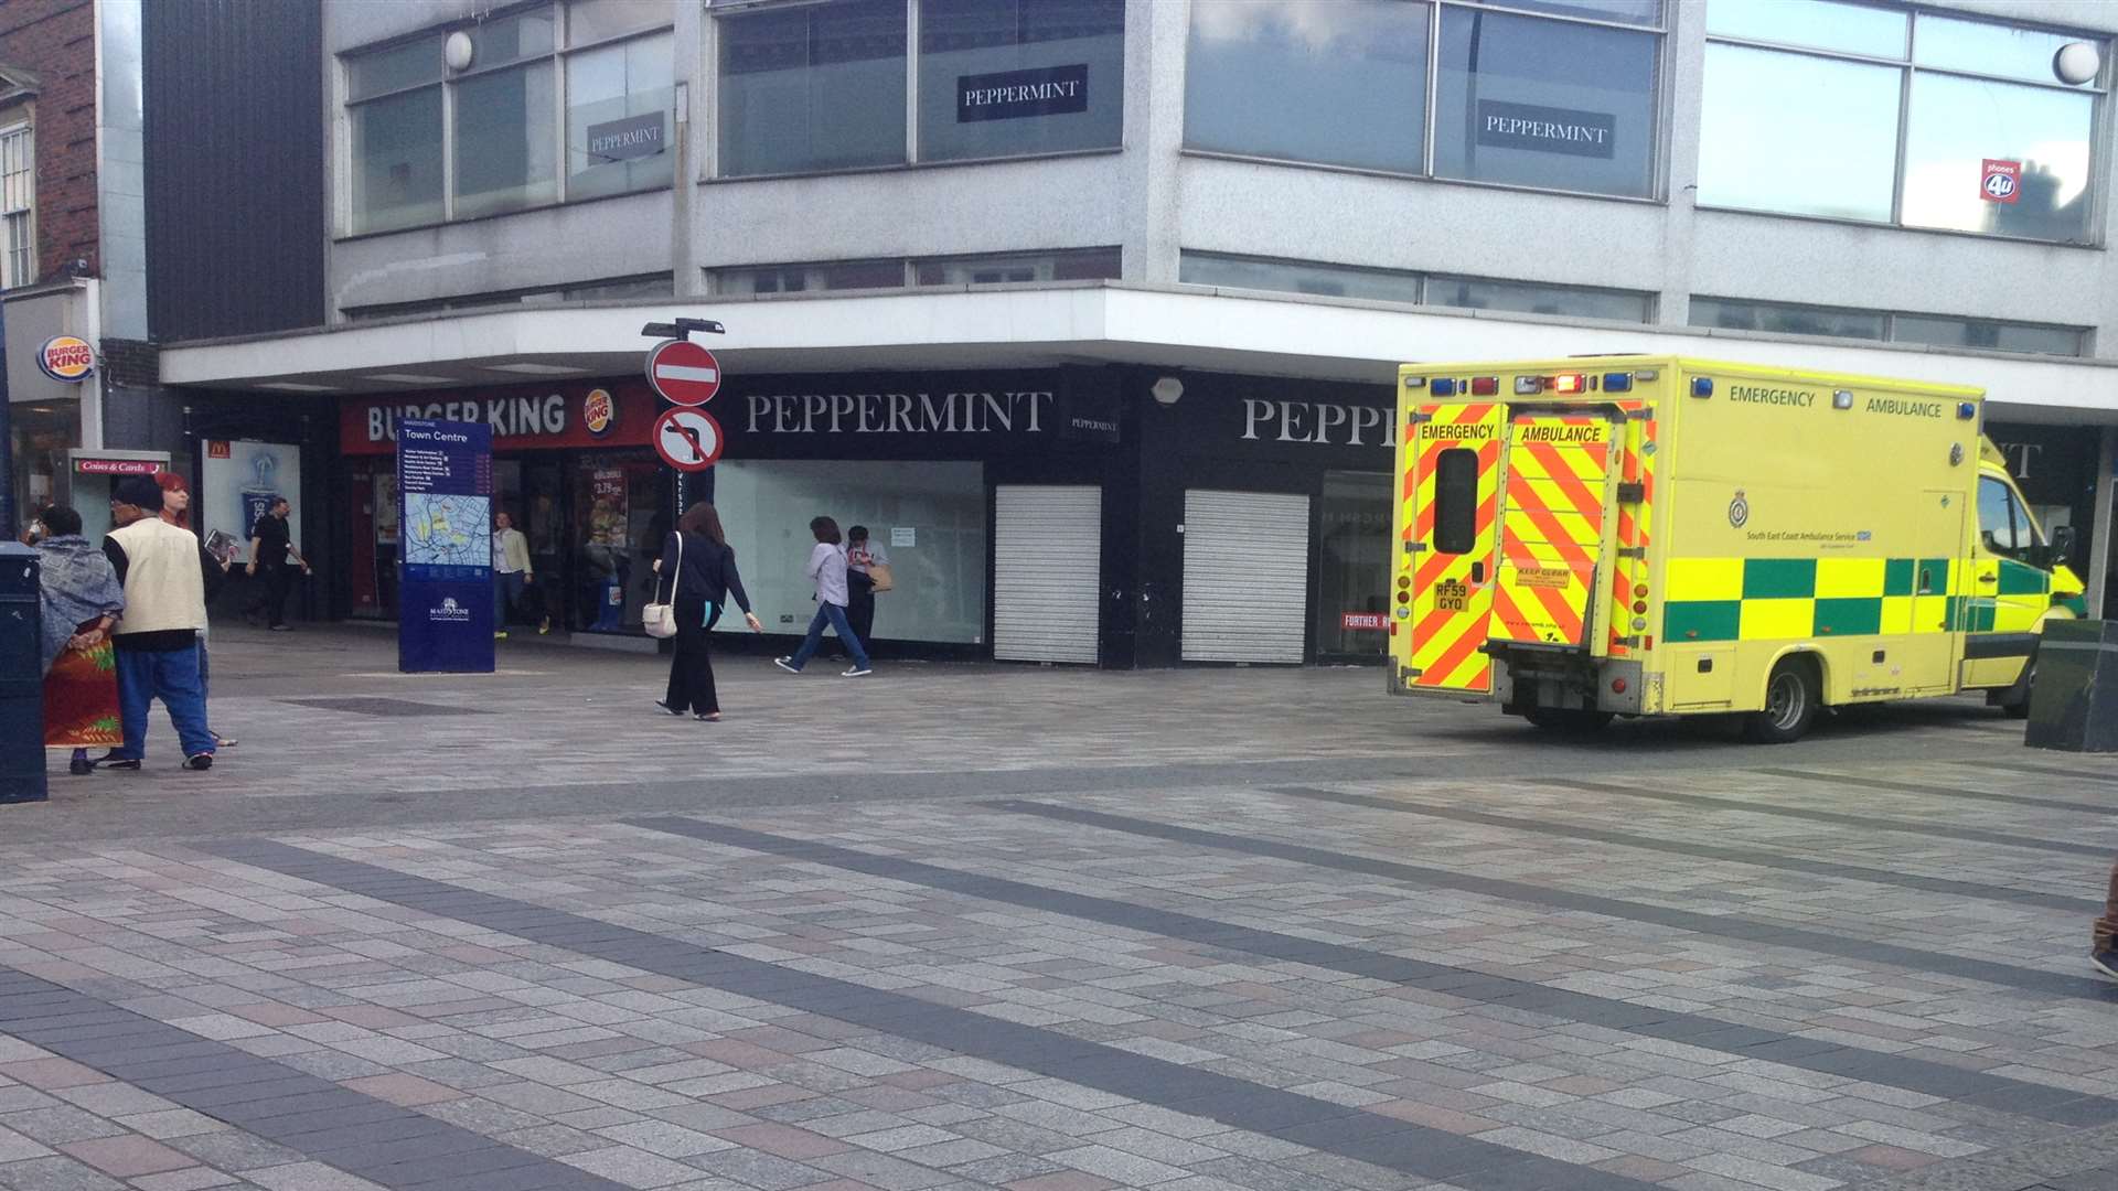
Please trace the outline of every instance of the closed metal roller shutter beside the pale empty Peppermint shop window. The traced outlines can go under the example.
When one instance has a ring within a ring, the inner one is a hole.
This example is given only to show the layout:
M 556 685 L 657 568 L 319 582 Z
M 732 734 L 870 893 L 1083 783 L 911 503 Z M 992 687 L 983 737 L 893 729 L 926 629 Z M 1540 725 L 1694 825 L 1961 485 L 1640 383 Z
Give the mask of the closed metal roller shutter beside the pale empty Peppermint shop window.
M 1103 490 L 993 487 L 993 657 L 1095 663 Z

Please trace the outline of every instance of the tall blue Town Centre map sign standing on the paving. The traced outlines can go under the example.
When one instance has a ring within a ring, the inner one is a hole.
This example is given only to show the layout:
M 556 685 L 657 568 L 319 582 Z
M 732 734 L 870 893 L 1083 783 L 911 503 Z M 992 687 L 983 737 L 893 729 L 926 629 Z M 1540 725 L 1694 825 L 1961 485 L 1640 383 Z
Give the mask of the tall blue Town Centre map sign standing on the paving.
M 398 670 L 493 670 L 493 430 L 407 417 L 398 441 Z

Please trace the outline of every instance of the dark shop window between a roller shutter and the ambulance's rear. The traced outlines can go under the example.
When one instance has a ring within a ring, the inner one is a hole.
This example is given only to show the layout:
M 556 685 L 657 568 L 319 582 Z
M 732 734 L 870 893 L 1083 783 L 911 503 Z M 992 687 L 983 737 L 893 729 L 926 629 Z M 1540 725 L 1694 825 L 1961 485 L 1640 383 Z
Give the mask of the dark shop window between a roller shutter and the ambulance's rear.
M 1324 473 L 1317 500 L 1315 651 L 1381 655 L 1389 646 L 1389 477 Z

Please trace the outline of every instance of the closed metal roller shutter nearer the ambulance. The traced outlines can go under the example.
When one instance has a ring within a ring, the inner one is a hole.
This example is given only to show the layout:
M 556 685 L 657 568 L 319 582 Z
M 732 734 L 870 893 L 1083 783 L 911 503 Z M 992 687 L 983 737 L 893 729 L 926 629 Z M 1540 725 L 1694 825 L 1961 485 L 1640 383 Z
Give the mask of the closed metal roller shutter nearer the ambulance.
M 1184 661 L 1300 665 L 1307 612 L 1307 496 L 1184 494 Z

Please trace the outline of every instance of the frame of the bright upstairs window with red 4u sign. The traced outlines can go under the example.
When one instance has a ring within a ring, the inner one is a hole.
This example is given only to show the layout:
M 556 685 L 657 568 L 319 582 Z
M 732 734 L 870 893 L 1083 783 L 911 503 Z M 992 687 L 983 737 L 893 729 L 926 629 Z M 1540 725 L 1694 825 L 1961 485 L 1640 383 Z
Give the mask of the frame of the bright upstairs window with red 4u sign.
M 1711 2 L 1711 0 L 1707 0 L 1707 2 Z M 2090 206 L 2088 206 L 2088 239 L 2040 239 L 2040 237 L 2033 237 L 2033 235 L 2008 235 L 2004 231 L 1966 231 L 1966 229 L 1959 229 L 1959 227 L 1925 227 L 1925 225 L 1904 223 L 1904 182 L 1906 182 L 1906 155 L 1908 155 L 1910 138 L 1913 138 L 1913 78 L 1919 76 L 1919 74 L 1940 74 L 1940 76 L 1949 76 L 1949 78 L 1972 78 L 1972 81 L 1978 81 L 1978 83 L 2002 83 L 2002 85 L 2012 85 L 2012 87 L 2035 87 L 2035 89 L 2044 89 L 2044 91 L 2061 91 L 2061 93 L 2069 93 L 2069 95 L 2088 95 L 2090 97 L 2090 110 L 2088 110 L 2088 174 L 2086 176 L 2088 176 L 2088 184 L 2090 186 L 2095 186 L 2097 182 L 2101 182 L 2103 180 L 2103 172 L 2110 170 L 2110 148 L 2103 142 L 2107 140 L 2107 134 L 2110 134 L 2110 127 L 2112 127 L 2110 106 L 2112 106 L 2114 83 L 2118 83 L 2118 72 L 2114 72 L 2114 68 L 2112 68 L 2112 53 L 2118 51 L 2118 36 L 2114 36 L 2114 34 L 2099 34 L 2099 32 L 2067 30 L 2067 28 L 2048 25 L 2048 23 L 2042 23 L 2042 21 L 1997 19 L 1993 15 L 1987 15 L 1987 13 L 1970 13 L 1970 11 L 1955 11 L 1955 8 L 1927 8 L 1927 6 L 1919 6 L 1919 4 L 1896 6 L 1896 4 L 1877 4 L 1872 0 L 1830 0 L 1830 2 L 1832 4 L 1843 4 L 1843 6 L 1849 6 L 1849 8 L 1877 8 L 1877 11 L 1885 11 L 1885 13 L 1902 13 L 1904 15 L 1904 51 L 1902 51 L 1902 55 L 1900 57 L 1877 57 L 1872 53 L 1851 53 L 1851 51 L 1836 51 L 1836 49 L 1817 49 L 1817 47 L 1807 47 L 1807 45 L 1796 45 L 1796 42 L 1775 42 L 1775 40 L 1743 38 L 1743 36 L 1713 34 L 1713 32 L 1705 32 L 1705 45 L 1707 47 L 1733 45 L 1733 47 L 1764 49 L 1764 51 L 1775 51 L 1775 53 L 1798 53 L 1798 55 L 1821 57 L 1821 59 L 1830 59 L 1830 61 L 1851 61 L 1851 64 L 1860 64 L 1860 66 L 1887 66 L 1887 68 L 1896 70 L 1898 72 L 1898 153 L 1896 153 L 1896 161 L 1891 163 L 1891 178 L 1889 178 L 1889 218 L 1887 220 L 1870 220 L 1870 218 L 1830 216 L 1830 214 L 1779 212 L 1779 210 L 1771 210 L 1771 208 L 1741 208 L 1741 206 L 1724 206 L 1724 203 L 1697 203 L 1697 210 L 1705 210 L 1705 212 L 1735 212 L 1735 214 L 1762 214 L 1762 216 L 1773 216 L 1773 218 L 1802 218 L 1802 220 L 1815 220 L 1815 223 L 1841 223 L 1841 225 L 1851 225 L 1851 227 L 1891 227 L 1891 229 L 1898 229 L 1898 231 L 1925 231 L 1925 233 L 1934 233 L 1934 235 L 1970 235 L 1970 237 L 1976 237 L 1976 239 L 2006 239 L 2006 242 L 2014 242 L 2014 244 L 2052 244 L 2052 246 L 2059 246 L 2059 248 L 2103 248 L 2103 223 L 2105 223 L 2105 212 L 2107 212 L 2107 203 L 2110 203 L 2110 195 L 2105 195 L 2103 189 L 2097 189 L 2097 193 L 2090 195 Z M 2080 40 L 2080 42 L 2090 42 L 2090 45 L 2097 47 L 2099 57 L 2101 57 L 2099 72 L 2097 72 L 2095 81 L 2084 83 L 2080 87 L 2074 87 L 2074 85 L 2061 83 L 2057 78 L 2052 78 L 2052 81 L 2040 81 L 2040 78 L 2021 78 L 2021 76 L 1997 74 L 1997 72 L 1995 74 L 1987 74 L 1987 72 L 1963 70 L 1963 68 L 1955 68 L 1955 66 L 1923 66 L 1923 64 L 1919 64 L 1919 49 L 1917 49 L 1919 47 L 1919 21 L 1921 21 L 1921 17 L 1966 21 L 1966 23 L 1976 23 L 1976 25 L 1991 25 L 1991 28 L 1997 28 L 1997 30 L 2027 30 L 2027 32 L 2040 32 L 2040 34 L 2052 34 L 2052 36 L 2063 36 L 2063 38 Z M 1701 23 L 1705 23 L 1703 15 L 1701 15 Z M 1701 127 L 1703 127 L 1703 119 L 1705 119 L 1705 110 L 1701 106 Z

